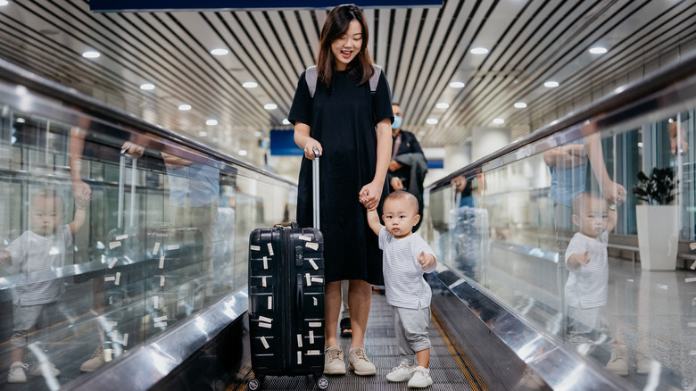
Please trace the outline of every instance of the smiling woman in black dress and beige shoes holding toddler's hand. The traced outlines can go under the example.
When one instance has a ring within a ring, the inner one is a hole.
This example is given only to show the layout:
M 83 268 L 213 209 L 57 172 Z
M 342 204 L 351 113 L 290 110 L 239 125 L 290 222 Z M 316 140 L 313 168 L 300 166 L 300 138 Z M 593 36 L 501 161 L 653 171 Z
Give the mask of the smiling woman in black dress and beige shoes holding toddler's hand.
M 356 5 L 339 5 L 327 15 L 319 40 L 317 87 L 310 96 L 305 73 L 300 76 L 288 120 L 294 141 L 304 149 L 297 194 L 300 227 L 312 225 L 311 160 L 321 155 L 320 227 L 324 235 L 327 352 L 324 373 L 345 374 L 344 352 L 336 329 L 341 310 L 341 280 L 350 280 L 348 303 L 352 342 L 349 368 L 357 375 L 376 373 L 363 339 L 368 324 L 371 285 L 384 285 L 382 252 L 369 229 L 359 196 L 368 207 L 381 205 L 388 194 L 385 176 L 392 149 L 389 85 L 381 74 L 373 93 L 375 72 L 368 53 L 368 24 Z M 380 212 L 381 213 L 381 212 Z

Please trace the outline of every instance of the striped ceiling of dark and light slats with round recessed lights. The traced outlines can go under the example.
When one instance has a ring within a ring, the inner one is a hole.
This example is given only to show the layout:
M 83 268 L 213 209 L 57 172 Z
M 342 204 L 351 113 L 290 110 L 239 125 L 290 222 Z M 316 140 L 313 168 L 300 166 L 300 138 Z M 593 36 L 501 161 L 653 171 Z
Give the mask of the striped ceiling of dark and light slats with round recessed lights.
M 1 58 L 227 152 L 291 129 L 284 119 L 327 15 L 3 2 Z M 696 48 L 693 1 L 444 0 L 365 14 L 403 129 L 426 147 L 482 128 L 524 136 Z

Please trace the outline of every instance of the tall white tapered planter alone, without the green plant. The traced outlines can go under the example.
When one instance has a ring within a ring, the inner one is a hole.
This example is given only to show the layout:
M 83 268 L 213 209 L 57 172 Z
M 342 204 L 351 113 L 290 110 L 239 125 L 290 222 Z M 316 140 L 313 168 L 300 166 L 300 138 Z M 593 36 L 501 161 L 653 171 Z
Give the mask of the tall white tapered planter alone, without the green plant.
M 638 247 L 642 270 L 675 270 L 679 244 L 677 205 L 637 205 Z

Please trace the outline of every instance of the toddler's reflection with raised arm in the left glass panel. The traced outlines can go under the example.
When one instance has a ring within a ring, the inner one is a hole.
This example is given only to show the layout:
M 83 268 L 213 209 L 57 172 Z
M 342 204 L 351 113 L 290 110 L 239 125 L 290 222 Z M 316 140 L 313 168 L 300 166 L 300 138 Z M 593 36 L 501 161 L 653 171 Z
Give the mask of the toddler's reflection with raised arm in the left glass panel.
M 22 357 L 29 330 L 37 326 L 46 305 L 57 301 L 65 292 L 63 279 L 56 277 L 56 269 L 65 265 L 65 254 L 72 247 L 72 235 L 85 222 L 87 199 L 76 198 L 75 204 L 75 219 L 70 224 L 60 225 L 65 219 L 62 197 L 54 190 L 34 193 L 29 202 L 31 229 L 0 253 L 0 263 L 11 263 L 19 270 L 12 288 L 14 326 L 8 383 L 27 381 L 24 370 L 29 366 L 22 363 Z M 53 376 L 61 373 L 53 364 L 46 363 L 37 365 L 29 374 L 40 375 L 46 370 Z

